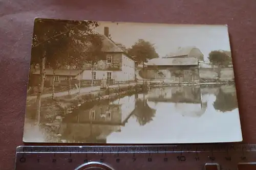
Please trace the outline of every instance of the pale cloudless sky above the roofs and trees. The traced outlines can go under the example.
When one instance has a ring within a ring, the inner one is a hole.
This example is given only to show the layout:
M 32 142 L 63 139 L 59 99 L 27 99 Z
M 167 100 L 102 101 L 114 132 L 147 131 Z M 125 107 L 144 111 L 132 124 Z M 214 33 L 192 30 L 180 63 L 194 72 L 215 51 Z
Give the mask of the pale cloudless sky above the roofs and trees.
M 99 22 L 96 32 L 104 34 L 109 27 L 113 41 L 131 47 L 138 39 L 155 44 L 160 57 L 174 53 L 178 47 L 196 46 L 207 61 L 213 50 L 230 51 L 228 28 L 225 25 L 170 25 L 159 23 Z

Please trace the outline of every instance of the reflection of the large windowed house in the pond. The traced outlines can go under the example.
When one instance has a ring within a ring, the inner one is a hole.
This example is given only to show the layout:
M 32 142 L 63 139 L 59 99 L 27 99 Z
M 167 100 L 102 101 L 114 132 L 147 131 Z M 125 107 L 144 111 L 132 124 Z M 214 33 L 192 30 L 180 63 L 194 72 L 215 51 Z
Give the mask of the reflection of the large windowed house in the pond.
M 67 142 L 106 143 L 106 137 L 120 131 L 134 109 L 134 95 L 110 103 L 86 103 L 63 118 L 62 139 Z

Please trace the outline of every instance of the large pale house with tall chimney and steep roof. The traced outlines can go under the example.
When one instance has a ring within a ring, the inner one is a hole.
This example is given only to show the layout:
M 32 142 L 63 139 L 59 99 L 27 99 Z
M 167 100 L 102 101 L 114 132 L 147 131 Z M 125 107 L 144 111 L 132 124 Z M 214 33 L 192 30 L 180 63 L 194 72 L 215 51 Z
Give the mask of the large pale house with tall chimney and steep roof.
M 94 65 L 84 64 L 81 79 L 100 80 L 107 79 L 114 81 L 135 80 L 135 61 L 122 49 L 120 43 L 115 43 L 109 38 L 109 28 L 104 28 L 103 48 L 106 59 Z

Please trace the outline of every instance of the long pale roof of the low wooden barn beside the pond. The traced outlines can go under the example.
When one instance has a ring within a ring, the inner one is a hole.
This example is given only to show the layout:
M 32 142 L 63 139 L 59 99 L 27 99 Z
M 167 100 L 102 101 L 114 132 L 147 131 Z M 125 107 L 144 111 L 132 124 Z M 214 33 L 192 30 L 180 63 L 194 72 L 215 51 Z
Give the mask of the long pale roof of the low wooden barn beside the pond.
M 153 58 L 147 65 L 198 65 L 195 58 Z

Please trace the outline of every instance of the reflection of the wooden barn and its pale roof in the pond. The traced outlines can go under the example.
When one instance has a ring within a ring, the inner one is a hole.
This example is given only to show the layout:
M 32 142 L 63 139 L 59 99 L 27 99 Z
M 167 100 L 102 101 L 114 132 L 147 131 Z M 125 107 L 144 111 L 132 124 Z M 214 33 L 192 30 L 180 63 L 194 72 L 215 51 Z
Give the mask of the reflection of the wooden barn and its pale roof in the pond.
M 151 89 L 147 95 L 147 103 L 157 109 L 159 103 L 173 104 L 171 112 L 179 112 L 183 116 L 199 117 L 207 108 L 206 96 L 201 95 L 200 87 L 164 87 Z

